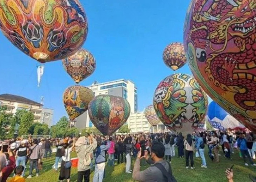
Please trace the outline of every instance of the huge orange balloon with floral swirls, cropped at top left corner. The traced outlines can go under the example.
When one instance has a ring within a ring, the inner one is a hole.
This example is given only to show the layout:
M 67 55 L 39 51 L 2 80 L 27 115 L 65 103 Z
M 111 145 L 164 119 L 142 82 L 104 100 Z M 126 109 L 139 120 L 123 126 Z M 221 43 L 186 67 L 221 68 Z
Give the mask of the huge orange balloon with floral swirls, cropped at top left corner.
M 74 54 L 88 25 L 78 0 L 1 0 L 0 28 L 12 44 L 41 63 Z

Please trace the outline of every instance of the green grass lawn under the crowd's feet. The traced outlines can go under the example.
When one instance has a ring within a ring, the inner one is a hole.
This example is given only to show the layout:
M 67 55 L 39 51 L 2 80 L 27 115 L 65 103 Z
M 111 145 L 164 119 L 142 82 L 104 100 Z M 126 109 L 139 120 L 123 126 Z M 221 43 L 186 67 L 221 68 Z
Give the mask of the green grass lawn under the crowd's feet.
M 177 151 L 176 151 L 177 152 Z M 176 153 L 177 154 L 177 153 Z M 206 154 L 206 153 L 205 153 Z M 222 154 L 222 152 L 221 152 Z M 72 153 L 72 157 L 75 157 Z M 249 182 L 249 174 L 256 175 L 256 167 L 245 166 L 242 158 L 239 157 L 238 151 L 231 155 L 232 160 L 225 159 L 220 156 L 220 163 L 211 162 L 208 154 L 205 155 L 207 160 L 207 169 L 202 169 L 200 158 L 194 158 L 195 169 L 185 168 L 185 158 L 172 158 L 173 175 L 178 182 L 226 182 L 225 169 L 234 164 L 234 182 Z M 134 159 L 133 159 L 134 162 Z M 33 171 L 33 178 L 26 179 L 27 182 L 57 182 L 59 173 L 52 170 L 54 158 L 44 161 L 44 169 L 40 171 L 39 177 L 35 177 L 35 170 Z M 133 165 L 132 165 L 133 167 Z M 145 169 L 147 166 L 141 168 Z M 29 167 L 26 169 L 26 177 L 29 173 Z M 93 174 L 91 173 L 90 181 L 93 181 Z M 71 169 L 71 181 L 77 181 L 77 170 Z M 106 178 L 103 182 L 133 182 L 132 174 L 125 173 L 125 163 L 119 164 L 114 167 L 106 166 Z

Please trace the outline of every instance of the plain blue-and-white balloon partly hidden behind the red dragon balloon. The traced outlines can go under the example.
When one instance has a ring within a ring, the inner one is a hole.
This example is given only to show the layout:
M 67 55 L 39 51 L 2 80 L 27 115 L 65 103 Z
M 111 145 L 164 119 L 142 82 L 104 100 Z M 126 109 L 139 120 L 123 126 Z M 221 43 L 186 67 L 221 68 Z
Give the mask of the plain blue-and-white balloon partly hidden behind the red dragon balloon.
M 214 101 L 208 106 L 206 118 L 211 126 L 217 130 L 224 131 L 228 128 L 232 130 L 244 130 L 246 128 Z

